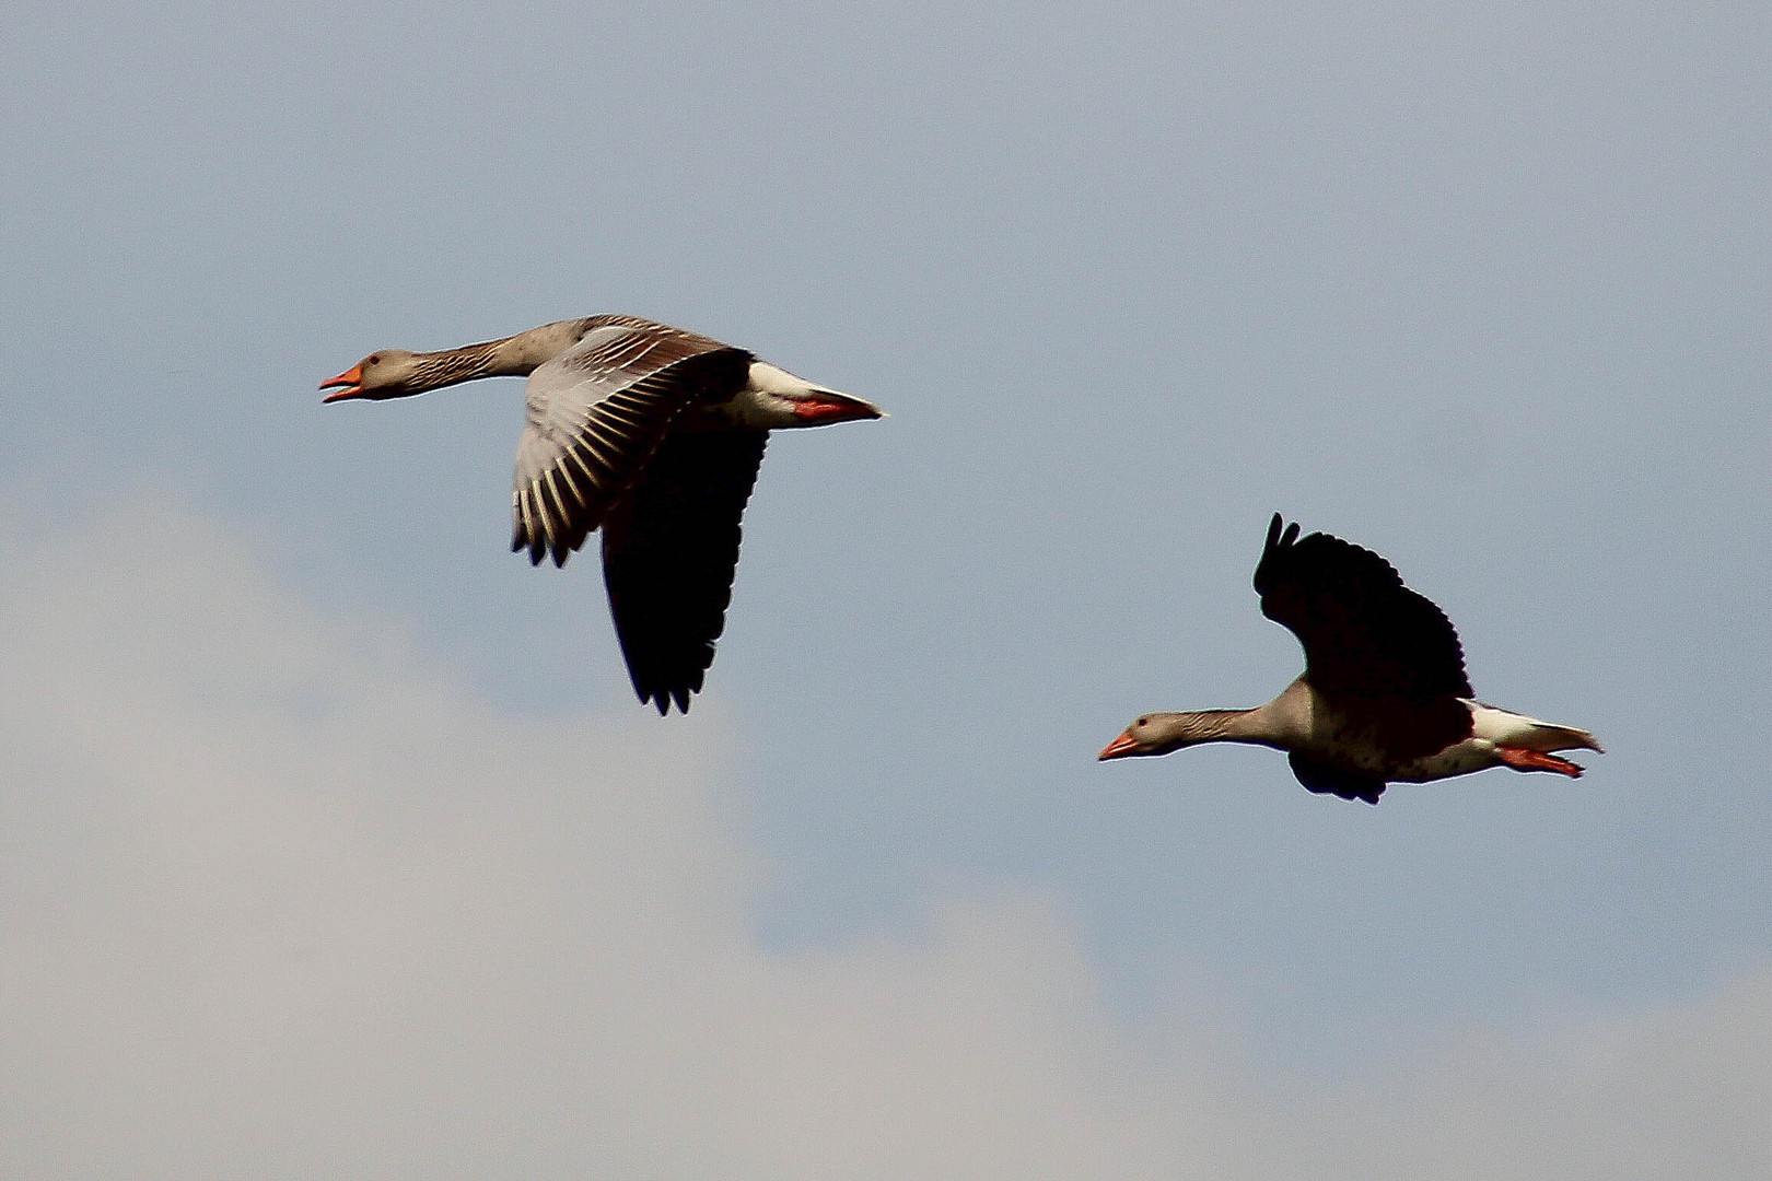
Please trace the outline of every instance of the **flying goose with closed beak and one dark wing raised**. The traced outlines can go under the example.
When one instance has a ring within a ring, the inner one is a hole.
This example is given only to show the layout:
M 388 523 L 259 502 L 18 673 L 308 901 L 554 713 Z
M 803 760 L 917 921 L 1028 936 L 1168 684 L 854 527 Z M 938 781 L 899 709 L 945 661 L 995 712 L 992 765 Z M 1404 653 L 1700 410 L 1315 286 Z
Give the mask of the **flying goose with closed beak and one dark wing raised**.
M 1377 804 L 1387 783 L 1488 767 L 1575 777 L 1582 768 L 1556 751 L 1600 749 L 1584 729 L 1476 701 L 1451 621 L 1370 549 L 1301 538 L 1274 513 L 1255 590 L 1262 614 L 1304 646 L 1304 673 L 1253 710 L 1145 714 L 1099 758 L 1253 742 L 1286 751 L 1311 791 Z

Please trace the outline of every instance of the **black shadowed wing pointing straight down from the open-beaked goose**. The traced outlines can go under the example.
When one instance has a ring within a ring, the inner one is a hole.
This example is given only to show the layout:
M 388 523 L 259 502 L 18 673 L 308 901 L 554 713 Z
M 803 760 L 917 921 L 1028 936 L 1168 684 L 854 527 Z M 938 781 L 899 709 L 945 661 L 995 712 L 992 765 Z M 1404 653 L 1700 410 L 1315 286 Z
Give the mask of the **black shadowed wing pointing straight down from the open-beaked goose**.
M 764 462 L 764 430 L 680 432 L 602 524 L 602 581 L 641 701 L 689 712 L 714 662 L 739 565 L 739 519 Z

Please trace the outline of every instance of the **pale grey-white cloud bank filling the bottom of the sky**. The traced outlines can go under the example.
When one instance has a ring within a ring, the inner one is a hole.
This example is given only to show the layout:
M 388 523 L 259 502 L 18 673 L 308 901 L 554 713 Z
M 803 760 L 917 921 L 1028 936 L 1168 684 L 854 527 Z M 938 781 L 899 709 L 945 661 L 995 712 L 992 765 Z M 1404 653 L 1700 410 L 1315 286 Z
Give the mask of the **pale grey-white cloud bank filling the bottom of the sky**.
M 1772 972 L 1327 1087 L 1035 896 L 767 954 L 712 703 L 501 717 L 183 508 L 7 515 L 5 1176 L 1772 1176 Z

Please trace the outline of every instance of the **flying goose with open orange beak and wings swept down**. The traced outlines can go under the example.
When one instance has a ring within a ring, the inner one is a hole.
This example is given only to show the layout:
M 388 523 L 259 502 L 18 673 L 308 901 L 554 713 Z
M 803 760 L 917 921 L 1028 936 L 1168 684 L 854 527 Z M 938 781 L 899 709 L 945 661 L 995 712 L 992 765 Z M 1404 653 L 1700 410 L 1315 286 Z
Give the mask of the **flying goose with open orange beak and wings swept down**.
M 739 521 L 771 430 L 881 418 L 744 349 L 634 315 L 592 315 L 443 352 L 383 349 L 326 402 L 528 377 L 512 552 L 556 567 L 602 531 L 602 579 L 634 692 L 689 710 L 725 629 Z

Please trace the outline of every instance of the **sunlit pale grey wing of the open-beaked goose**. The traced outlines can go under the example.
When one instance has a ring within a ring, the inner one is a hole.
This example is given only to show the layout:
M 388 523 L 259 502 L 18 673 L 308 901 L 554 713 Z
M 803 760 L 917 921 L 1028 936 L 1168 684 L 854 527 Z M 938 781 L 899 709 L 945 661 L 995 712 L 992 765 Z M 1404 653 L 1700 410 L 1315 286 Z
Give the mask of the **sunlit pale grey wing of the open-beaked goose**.
M 530 561 L 585 544 L 640 480 L 672 420 L 742 388 L 751 354 L 634 317 L 595 317 L 585 336 L 530 374 L 517 443 L 510 549 Z

